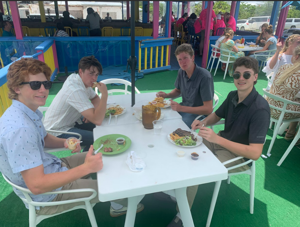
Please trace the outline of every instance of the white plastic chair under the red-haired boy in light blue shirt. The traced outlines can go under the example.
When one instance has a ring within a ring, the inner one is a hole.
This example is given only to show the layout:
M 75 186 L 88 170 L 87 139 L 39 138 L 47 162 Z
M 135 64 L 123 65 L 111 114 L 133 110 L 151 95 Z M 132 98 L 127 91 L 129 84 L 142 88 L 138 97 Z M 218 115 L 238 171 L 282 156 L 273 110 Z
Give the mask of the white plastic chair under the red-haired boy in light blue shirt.
M 40 223 L 42 220 L 49 218 L 49 217 L 53 217 L 62 213 L 66 213 L 69 212 L 71 210 L 77 210 L 77 209 L 85 209 L 88 212 L 88 218 L 90 219 L 91 222 L 91 226 L 92 227 L 98 227 L 97 222 L 96 222 L 96 218 L 95 218 L 95 214 L 93 211 L 93 207 L 95 206 L 95 204 L 91 204 L 91 199 L 95 198 L 97 196 L 97 192 L 94 189 L 74 189 L 74 190 L 61 190 L 61 191 L 51 191 L 51 192 L 46 192 L 40 195 L 52 195 L 52 194 L 65 194 L 65 193 L 77 193 L 77 192 L 91 192 L 92 195 L 89 197 L 85 197 L 85 198 L 77 198 L 77 199 L 70 199 L 70 200 L 65 200 L 65 201 L 57 201 L 57 202 L 35 202 L 32 201 L 32 198 L 29 196 L 29 194 L 32 194 L 32 192 L 29 189 L 20 187 L 12 182 L 10 182 L 10 180 L 7 179 L 7 177 L 5 177 L 2 174 L 4 180 L 6 180 L 7 183 L 9 183 L 13 188 L 16 188 L 18 190 L 20 190 L 23 195 L 25 196 L 25 198 L 21 198 L 23 202 L 27 203 L 29 206 L 29 227 L 36 227 L 38 225 L 38 223 Z M 79 205 L 76 207 L 73 207 L 69 210 L 65 210 L 61 213 L 55 213 L 52 215 L 39 215 L 35 213 L 35 206 L 40 206 L 40 207 L 44 207 L 44 206 L 55 206 L 55 205 L 61 205 L 61 204 L 69 204 L 69 203 L 76 203 L 76 202 L 84 202 L 85 205 Z

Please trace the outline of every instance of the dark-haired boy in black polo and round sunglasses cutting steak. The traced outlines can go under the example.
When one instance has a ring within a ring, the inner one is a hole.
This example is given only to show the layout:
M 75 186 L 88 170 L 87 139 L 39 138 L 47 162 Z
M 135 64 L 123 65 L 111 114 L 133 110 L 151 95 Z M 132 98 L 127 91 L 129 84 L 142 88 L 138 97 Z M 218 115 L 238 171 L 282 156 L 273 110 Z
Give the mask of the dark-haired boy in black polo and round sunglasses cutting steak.
M 198 135 L 220 162 L 238 156 L 243 156 L 246 160 L 257 160 L 262 153 L 270 122 L 269 104 L 254 88 L 258 77 L 258 62 L 250 57 L 241 57 L 233 64 L 233 70 L 237 91 L 230 92 L 222 105 L 202 122 L 194 121 L 192 129 L 200 129 Z M 225 119 L 225 127 L 218 134 L 205 127 L 222 118 Z M 245 160 L 240 159 L 225 167 L 243 162 Z M 229 173 L 247 169 L 249 166 L 244 165 Z

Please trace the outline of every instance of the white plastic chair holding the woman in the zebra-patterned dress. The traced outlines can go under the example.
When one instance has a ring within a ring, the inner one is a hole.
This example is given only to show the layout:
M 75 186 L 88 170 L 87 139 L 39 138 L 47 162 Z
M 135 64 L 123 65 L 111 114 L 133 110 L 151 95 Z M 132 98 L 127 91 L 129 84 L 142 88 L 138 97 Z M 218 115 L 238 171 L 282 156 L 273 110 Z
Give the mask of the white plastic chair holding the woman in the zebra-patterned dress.
M 293 104 L 293 105 L 296 105 L 296 106 L 300 106 L 300 103 L 293 102 L 293 101 L 287 100 L 285 98 L 281 98 L 281 97 L 279 97 L 277 95 L 273 95 L 273 94 L 267 92 L 265 88 L 263 88 L 262 91 L 265 94 L 265 96 L 268 96 L 269 98 L 272 98 L 274 100 L 283 102 L 283 107 L 282 108 L 276 107 L 276 106 L 273 106 L 273 105 L 269 104 L 270 108 L 273 108 L 275 110 L 279 110 L 281 112 L 278 120 L 271 117 L 271 121 L 275 122 L 275 127 L 274 127 L 273 137 L 272 137 L 272 140 L 271 140 L 271 143 L 270 143 L 270 146 L 269 146 L 269 149 L 268 149 L 268 153 L 267 153 L 267 154 L 270 154 L 271 150 L 272 150 L 272 147 L 273 147 L 273 144 L 274 144 L 275 139 L 276 139 L 276 135 L 277 135 L 277 133 L 279 131 L 281 123 L 289 123 L 289 122 L 294 122 L 294 121 L 300 121 L 300 118 L 283 120 L 283 117 L 284 117 L 285 113 L 299 113 L 297 111 L 287 110 L 286 106 L 288 104 Z

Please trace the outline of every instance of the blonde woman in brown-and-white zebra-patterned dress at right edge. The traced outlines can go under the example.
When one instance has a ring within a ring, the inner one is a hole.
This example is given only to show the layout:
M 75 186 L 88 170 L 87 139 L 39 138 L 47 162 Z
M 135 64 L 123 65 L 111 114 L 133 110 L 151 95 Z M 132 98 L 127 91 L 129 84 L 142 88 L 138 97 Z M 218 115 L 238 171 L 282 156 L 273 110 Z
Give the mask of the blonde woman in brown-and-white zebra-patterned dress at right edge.
M 300 91 L 300 46 L 297 46 L 294 50 L 292 56 L 293 64 L 286 64 L 279 68 L 278 73 L 274 78 L 273 85 L 271 86 L 270 93 L 277 95 L 279 97 L 288 99 L 290 101 L 300 103 L 300 98 L 296 95 Z M 267 97 L 269 104 L 276 107 L 283 107 L 283 103 L 276 101 L 272 98 Z M 287 110 L 298 111 L 299 113 L 285 113 L 283 120 L 289 120 L 294 118 L 300 118 L 300 106 L 288 104 Z M 280 116 L 280 111 L 271 108 L 271 116 L 278 119 Z M 291 122 L 289 125 L 289 130 L 286 132 L 285 139 L 292 140 L 296 134 L 296 127 L 298 122 Z M 300 144 L 300 139 L 297 141 L 296 145 Z

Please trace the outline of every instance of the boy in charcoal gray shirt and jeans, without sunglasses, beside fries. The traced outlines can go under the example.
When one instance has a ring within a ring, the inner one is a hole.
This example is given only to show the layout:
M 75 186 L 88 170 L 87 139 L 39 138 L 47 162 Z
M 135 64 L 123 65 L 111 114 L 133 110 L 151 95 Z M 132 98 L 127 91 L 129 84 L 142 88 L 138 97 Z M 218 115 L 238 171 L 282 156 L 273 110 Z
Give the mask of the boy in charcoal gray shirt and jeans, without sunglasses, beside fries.
M 214 80 L 209 71 L 194 62 L 194 50 L 190 44 L 182 44 L 175 51 L 180 65 L 175 81 L 175 89 L 170 93 L 158 92 L 158 97 L 176 98 L 182 95 L 182 102 L 171 101 L 172 110 L 178 111 L 182 120 L 191 128 L 199 115 L 202 120 L 212 112 L 214 97 Z

